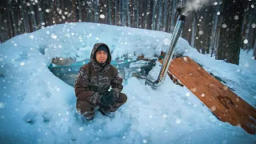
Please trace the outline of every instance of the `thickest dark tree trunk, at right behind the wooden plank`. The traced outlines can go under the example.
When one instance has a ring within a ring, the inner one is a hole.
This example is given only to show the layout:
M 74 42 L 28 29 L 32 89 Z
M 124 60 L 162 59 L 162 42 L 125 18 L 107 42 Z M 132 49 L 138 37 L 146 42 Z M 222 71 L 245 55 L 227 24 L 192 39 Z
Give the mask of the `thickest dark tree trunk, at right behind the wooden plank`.
M 244 2 L 226 0 L 222 5 L 222 28 L 216 58 L 238 65 Z M 238 20 L 234 16 L 238 16 Z

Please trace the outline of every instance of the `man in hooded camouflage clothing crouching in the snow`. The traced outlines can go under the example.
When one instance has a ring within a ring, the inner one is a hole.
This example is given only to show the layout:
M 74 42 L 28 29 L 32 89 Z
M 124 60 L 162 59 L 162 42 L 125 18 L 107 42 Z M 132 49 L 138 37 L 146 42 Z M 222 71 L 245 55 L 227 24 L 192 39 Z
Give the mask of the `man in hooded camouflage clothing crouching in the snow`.
M 95 107 L 103 115 L 118 110 L 126 100 L 122 94 L 122 78 L 118 70 L 110 65 L 110 49 L 105 43 L 96 43 L 90 54 L 90 62 L 82 66 L 75 81 L 77 110 L 86 120 L 94 118 Z M 110 89 L 111 90 L 108 91 Z

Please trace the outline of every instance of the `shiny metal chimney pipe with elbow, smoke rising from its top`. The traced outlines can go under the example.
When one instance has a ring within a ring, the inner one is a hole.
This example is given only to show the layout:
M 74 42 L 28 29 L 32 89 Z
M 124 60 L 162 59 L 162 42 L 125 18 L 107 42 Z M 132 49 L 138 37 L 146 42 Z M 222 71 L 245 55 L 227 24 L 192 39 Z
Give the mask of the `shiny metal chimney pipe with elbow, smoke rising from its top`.
M 182 32 L 182 27 L 185 22 L 185 16 L 184 15 L 179 15 L 178 16 L 178 21 L 176 22 L 176 26 L 174 28 L 174 32 L 170 38 L 170 47 L 169 50 L 166 53 L 166 56 L 164 58 L 163 64 L 161 71 L 158 75 L 158 80 L 154 81 L 150 78 L 146 78 L 145 76 L 138 76 L 139 78 L 145 78 L 146 79 L 146 84 L 149 84 L 150 86 L 158 87 L 162 85 L 162 82 L 166 79 L 166 74 L 168 72 L 168 68 L 170 66 L 170 62 L 173 58 L 173 52 L 174 48 L 178 42 L 178 38 Z

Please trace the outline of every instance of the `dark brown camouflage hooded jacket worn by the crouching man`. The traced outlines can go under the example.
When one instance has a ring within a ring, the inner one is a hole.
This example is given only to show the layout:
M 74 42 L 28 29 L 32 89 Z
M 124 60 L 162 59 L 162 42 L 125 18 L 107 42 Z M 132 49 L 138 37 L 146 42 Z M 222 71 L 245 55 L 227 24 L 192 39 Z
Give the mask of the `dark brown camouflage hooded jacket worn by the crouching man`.
M 94 53 L 98 46 L 106 45 L 97 43 L 90 54 L 90 62 L 82 66 L 78 72 L 77 79 L 74 84 L 75 94 L 78 99 L 90 97 L 90 102 L 99 102 L 102 93 L 108 91 L 114 92 L 114 98 L 118 99 L 122 90 L 122 78 L 118 77 L 118 70 L 110 65 L 111 55 L 110 49 L 105 66 L 100 66 L 95 59 Z

